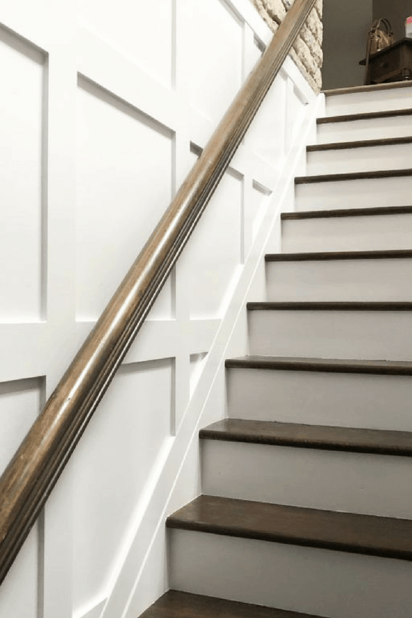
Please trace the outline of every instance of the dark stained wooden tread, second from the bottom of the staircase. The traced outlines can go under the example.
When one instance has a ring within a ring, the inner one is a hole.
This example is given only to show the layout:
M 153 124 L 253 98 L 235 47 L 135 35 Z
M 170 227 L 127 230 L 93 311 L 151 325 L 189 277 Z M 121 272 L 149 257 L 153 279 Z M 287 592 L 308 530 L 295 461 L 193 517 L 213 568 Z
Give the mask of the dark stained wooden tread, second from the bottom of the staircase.
M 199 496 L 169 528 L 412 560 L 412 521 Z

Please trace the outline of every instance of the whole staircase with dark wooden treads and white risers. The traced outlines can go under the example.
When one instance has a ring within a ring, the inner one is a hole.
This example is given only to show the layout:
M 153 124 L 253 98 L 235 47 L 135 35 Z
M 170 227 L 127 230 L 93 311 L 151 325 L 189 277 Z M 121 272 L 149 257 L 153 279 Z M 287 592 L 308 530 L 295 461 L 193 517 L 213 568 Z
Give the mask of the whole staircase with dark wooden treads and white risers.
M 326 110 L 144 618 L 412 616 L 412 88 Z

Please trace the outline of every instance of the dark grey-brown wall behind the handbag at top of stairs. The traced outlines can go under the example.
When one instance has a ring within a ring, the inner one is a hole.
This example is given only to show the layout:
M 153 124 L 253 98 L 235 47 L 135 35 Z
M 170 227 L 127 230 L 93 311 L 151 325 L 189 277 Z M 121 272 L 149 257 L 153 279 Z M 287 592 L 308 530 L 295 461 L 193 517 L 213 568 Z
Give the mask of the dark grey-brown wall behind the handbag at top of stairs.
M 360 86 L 366 39 L 373 21 L 387 17 L 396 39 L 412 15 L 411 0 L 323 0 L 323 90 Z

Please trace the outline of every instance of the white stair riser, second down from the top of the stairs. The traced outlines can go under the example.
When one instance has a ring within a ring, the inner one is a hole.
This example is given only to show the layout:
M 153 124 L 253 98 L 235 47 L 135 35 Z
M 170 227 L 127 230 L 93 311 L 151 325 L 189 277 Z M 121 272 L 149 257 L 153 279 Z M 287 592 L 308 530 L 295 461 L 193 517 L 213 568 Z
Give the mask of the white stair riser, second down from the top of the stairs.
M 317 127 L 317 144 L 409 135 L 412 135 L 412 115 L 327 122 Z

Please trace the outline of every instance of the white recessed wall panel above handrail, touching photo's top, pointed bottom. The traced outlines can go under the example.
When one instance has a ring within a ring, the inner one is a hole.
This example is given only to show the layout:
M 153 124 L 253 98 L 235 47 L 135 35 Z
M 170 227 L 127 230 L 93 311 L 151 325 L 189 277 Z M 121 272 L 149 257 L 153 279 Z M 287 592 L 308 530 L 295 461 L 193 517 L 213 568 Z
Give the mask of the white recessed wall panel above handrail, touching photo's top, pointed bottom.
M 179 83 L 216 124 L 242 84 L 243 24 L 220 0 L 179 0 Z

